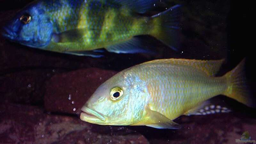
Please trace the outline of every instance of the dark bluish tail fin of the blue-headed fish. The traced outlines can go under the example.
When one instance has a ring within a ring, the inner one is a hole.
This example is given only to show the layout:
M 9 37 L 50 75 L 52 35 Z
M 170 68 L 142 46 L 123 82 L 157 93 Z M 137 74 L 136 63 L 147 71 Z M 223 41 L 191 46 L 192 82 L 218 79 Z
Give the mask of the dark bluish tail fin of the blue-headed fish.
M 159 22 L 156 24 L 152 35 L 175 51 L 180 48 L 180 7 L 181 5 L 175 5 L 151 17 L 155 20 L 160 19 L 160 24 Z

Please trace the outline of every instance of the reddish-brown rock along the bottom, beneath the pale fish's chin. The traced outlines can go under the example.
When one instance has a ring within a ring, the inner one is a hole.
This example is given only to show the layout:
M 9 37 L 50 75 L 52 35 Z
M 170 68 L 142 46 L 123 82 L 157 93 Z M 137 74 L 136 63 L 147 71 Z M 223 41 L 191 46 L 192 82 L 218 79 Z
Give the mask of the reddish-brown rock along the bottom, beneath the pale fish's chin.
M 36 106 L 0 105 L 1 144 L 147 144 L 140 133 L 124 127 L 98 126 L 76 116 L 51 115 Z

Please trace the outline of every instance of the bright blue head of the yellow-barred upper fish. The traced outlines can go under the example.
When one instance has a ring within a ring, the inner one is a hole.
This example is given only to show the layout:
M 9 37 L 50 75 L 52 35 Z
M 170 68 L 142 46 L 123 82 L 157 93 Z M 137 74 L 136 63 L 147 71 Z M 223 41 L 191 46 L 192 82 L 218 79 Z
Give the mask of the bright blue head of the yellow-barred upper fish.
M 7 39 L 34 48 L 47 46 L 52 37 L 52 23 L 42 3 L 35 2 L 21 10 L 3 28 Z

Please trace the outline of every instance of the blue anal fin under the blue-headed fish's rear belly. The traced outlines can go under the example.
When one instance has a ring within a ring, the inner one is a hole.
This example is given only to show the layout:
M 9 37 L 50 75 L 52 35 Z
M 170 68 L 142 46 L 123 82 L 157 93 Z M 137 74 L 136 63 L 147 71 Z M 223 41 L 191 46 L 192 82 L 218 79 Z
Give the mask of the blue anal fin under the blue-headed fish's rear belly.
M 106 49 L 115 53 L 153 53 L 139 37 L 132 37 L 130 40 L 110 45 Z

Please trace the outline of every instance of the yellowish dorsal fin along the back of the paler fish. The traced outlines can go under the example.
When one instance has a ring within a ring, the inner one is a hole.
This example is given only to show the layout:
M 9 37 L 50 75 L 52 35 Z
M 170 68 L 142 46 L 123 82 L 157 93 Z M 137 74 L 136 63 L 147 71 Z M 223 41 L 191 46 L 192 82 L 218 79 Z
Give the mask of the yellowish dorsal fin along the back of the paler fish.
M 190 66 L 204 71 L 208 76 L 215 76 L 224 59 L 221 60 L 188 60 L 188 59 L 161 59 L 144 62 L 143 64 L 170 64 Z

